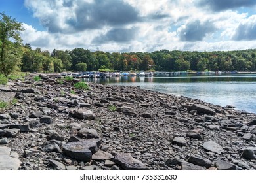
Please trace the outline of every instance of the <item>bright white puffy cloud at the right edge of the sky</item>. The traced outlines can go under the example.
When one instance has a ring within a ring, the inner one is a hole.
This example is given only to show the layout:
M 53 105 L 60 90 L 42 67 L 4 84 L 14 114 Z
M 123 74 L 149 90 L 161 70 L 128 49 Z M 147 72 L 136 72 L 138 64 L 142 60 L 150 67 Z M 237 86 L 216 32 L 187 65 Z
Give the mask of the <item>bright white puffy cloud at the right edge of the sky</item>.
M 255 40 L 256 39 L 256 15 L 250 16 L 244 22 L 241 22 L 234 36 L 232 37 L 236 41 L 240 40 Z

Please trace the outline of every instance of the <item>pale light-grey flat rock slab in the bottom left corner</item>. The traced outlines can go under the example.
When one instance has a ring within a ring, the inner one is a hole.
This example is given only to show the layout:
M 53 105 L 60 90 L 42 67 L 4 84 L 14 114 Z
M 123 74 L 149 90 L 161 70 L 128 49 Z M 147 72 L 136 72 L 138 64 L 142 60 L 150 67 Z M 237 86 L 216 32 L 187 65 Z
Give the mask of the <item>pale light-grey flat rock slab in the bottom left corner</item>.
M 20 163 L 18 154 L 11 153 L 11 148 L 0 146 L 0 170 L 16 170 Z

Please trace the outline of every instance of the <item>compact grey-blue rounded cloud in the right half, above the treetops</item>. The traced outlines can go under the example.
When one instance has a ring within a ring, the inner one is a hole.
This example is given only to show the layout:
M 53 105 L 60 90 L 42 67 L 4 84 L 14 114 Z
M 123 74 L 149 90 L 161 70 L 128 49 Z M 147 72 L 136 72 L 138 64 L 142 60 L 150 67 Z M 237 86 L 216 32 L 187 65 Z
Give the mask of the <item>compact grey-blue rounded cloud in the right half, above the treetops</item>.
M 181 41 L 202 41 L 208 33 L 213 33 L 213 31 L 215 31 L 213 23 L 196 20 L 182 27 L 179 37 Z

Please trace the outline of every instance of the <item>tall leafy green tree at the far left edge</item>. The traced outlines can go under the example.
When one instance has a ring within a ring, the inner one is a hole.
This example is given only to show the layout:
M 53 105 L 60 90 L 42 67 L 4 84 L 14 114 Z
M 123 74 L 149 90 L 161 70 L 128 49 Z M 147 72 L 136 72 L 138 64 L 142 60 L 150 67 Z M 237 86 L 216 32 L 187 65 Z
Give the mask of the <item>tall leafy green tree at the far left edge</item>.
M 5 12 L 0 13 L 0 72 L 5 76 L 20 66 L 21 52 L 17 49 L 20 49 L 20 31 L 23 30 L 22 24 L 15 18 L 7 16 Z

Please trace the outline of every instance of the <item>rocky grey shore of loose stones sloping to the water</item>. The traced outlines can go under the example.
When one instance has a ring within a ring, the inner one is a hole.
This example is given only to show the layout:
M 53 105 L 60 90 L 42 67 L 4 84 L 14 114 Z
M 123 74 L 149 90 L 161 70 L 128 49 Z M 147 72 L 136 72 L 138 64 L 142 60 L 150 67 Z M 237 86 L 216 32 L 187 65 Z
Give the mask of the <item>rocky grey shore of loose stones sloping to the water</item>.
M 256 169 L 256 114 L 78 81 L 0 86 L 0 169 Z

